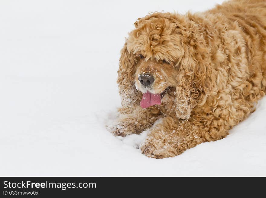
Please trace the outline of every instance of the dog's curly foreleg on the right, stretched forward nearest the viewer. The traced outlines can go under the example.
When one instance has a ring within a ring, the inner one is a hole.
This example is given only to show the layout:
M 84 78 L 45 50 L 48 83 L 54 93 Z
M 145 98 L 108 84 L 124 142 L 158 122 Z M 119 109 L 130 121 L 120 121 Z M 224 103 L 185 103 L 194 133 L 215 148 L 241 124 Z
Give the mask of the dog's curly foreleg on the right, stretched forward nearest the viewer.
M 140 149 L 146 156 L 153 158 L 177 156 L 202 142 L 226 137 L 227 127 L 219 126 L 218 130 L 215 123 L 219 122 L 203 123 L 165 117 L 153 127 L 148 137 L 141 143 Z

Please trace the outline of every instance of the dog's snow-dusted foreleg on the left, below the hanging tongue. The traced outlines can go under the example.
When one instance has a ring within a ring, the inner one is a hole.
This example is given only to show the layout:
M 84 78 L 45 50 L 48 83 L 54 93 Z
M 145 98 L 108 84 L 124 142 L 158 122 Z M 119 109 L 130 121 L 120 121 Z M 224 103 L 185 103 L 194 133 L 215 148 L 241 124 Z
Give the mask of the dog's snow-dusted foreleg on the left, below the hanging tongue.
M 131 108 L 118 110 L 118 119 L 107 128 L 115 135 L 126 136 L 140 134 L 143 130 L 150 128 L 160 118 L 160 110 L 155 107 L 143 109 L 139 105 Z

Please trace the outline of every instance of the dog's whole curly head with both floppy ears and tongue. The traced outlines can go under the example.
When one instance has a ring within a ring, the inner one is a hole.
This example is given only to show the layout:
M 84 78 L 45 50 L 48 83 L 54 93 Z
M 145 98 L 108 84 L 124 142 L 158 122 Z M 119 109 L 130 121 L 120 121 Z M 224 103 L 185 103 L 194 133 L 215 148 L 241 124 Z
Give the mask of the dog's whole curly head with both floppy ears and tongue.
M 170 13 L 139 18 L 135 27 L 121 51 L 122 105 L 140 102 L 147 108 L 169 97 L 176 116 L 188 119 L 215 83 L 203 27 L 189 15 Z

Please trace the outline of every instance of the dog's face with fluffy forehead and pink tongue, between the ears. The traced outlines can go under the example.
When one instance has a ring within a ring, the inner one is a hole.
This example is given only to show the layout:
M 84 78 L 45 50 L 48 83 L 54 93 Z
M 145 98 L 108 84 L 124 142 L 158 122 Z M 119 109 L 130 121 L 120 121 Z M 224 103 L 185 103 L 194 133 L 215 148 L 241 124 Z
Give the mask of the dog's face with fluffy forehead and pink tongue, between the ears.
M 135 86 L 143 93 L 141 107 L 160 105 L 173 95 L 177 86 L 178 64 L 183 56 L 180 29 L 164 18 L 153 18 L 137 25 L 127 39 L 127 49 L 134 54 Z

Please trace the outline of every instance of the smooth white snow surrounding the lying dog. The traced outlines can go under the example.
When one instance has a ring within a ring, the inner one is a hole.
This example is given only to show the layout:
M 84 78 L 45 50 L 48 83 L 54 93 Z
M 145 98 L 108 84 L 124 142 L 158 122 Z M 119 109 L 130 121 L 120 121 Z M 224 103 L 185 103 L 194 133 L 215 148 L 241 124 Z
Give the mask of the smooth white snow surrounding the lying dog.
M 135 20 L 221 2 L 2 0 L 0 176 L 266 176 L 266 97 L 227 138 L 174 158 L 142 155 L 135 145 L 145 133 L 105 129 Z

